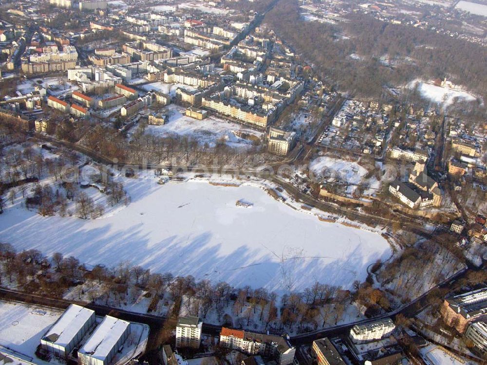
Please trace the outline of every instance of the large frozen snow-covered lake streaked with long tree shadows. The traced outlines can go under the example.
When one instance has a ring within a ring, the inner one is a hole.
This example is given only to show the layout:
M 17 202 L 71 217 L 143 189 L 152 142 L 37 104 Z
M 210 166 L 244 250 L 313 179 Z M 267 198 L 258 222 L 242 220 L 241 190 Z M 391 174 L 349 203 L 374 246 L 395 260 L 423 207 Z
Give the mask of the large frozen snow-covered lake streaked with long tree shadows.
M 320 221 L 271 198 L 258 183 L 156 181 L 129 179 L 131 204 L 95 220 L 9 208 L 0 216 L 0 236 L 17 250 L 59 251 L 92 265 L 129 260 L 152 272 L 278 293 L 315 281 L 350 288 L 391 254 L 380 234 Z M 252 209 L 236 206 L 240 199 Z

